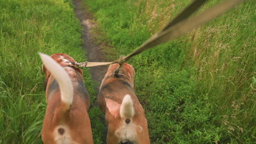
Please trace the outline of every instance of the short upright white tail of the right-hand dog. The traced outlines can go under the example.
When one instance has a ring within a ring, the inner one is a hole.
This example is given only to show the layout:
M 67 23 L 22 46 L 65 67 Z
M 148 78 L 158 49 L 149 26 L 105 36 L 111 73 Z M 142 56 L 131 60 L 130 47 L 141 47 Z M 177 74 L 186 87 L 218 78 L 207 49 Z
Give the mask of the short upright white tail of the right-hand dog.
M 120 116 L 121 118 L 132 118 L 134 115 L 135 111 L 133 109 L 131 95 L 126 94 L 120 107 Z

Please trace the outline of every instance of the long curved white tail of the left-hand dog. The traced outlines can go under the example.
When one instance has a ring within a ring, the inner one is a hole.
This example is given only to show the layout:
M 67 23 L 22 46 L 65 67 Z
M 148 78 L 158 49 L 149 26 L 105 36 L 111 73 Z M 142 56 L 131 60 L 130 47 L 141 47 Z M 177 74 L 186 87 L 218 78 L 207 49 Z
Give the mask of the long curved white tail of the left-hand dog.
M 38 54 L 40 55 L 45 67 L 50 71 L 50 73 L 59 83 L 61 101 L 65 104 L 66 110 L 68 110 L 73 101 L 73 86 L 71 79 L 69 78 L 66 71 L 61 67 L 61 65 L 55 62 L 53 58 L 45 55 L 44 53 L 38 52 Z

